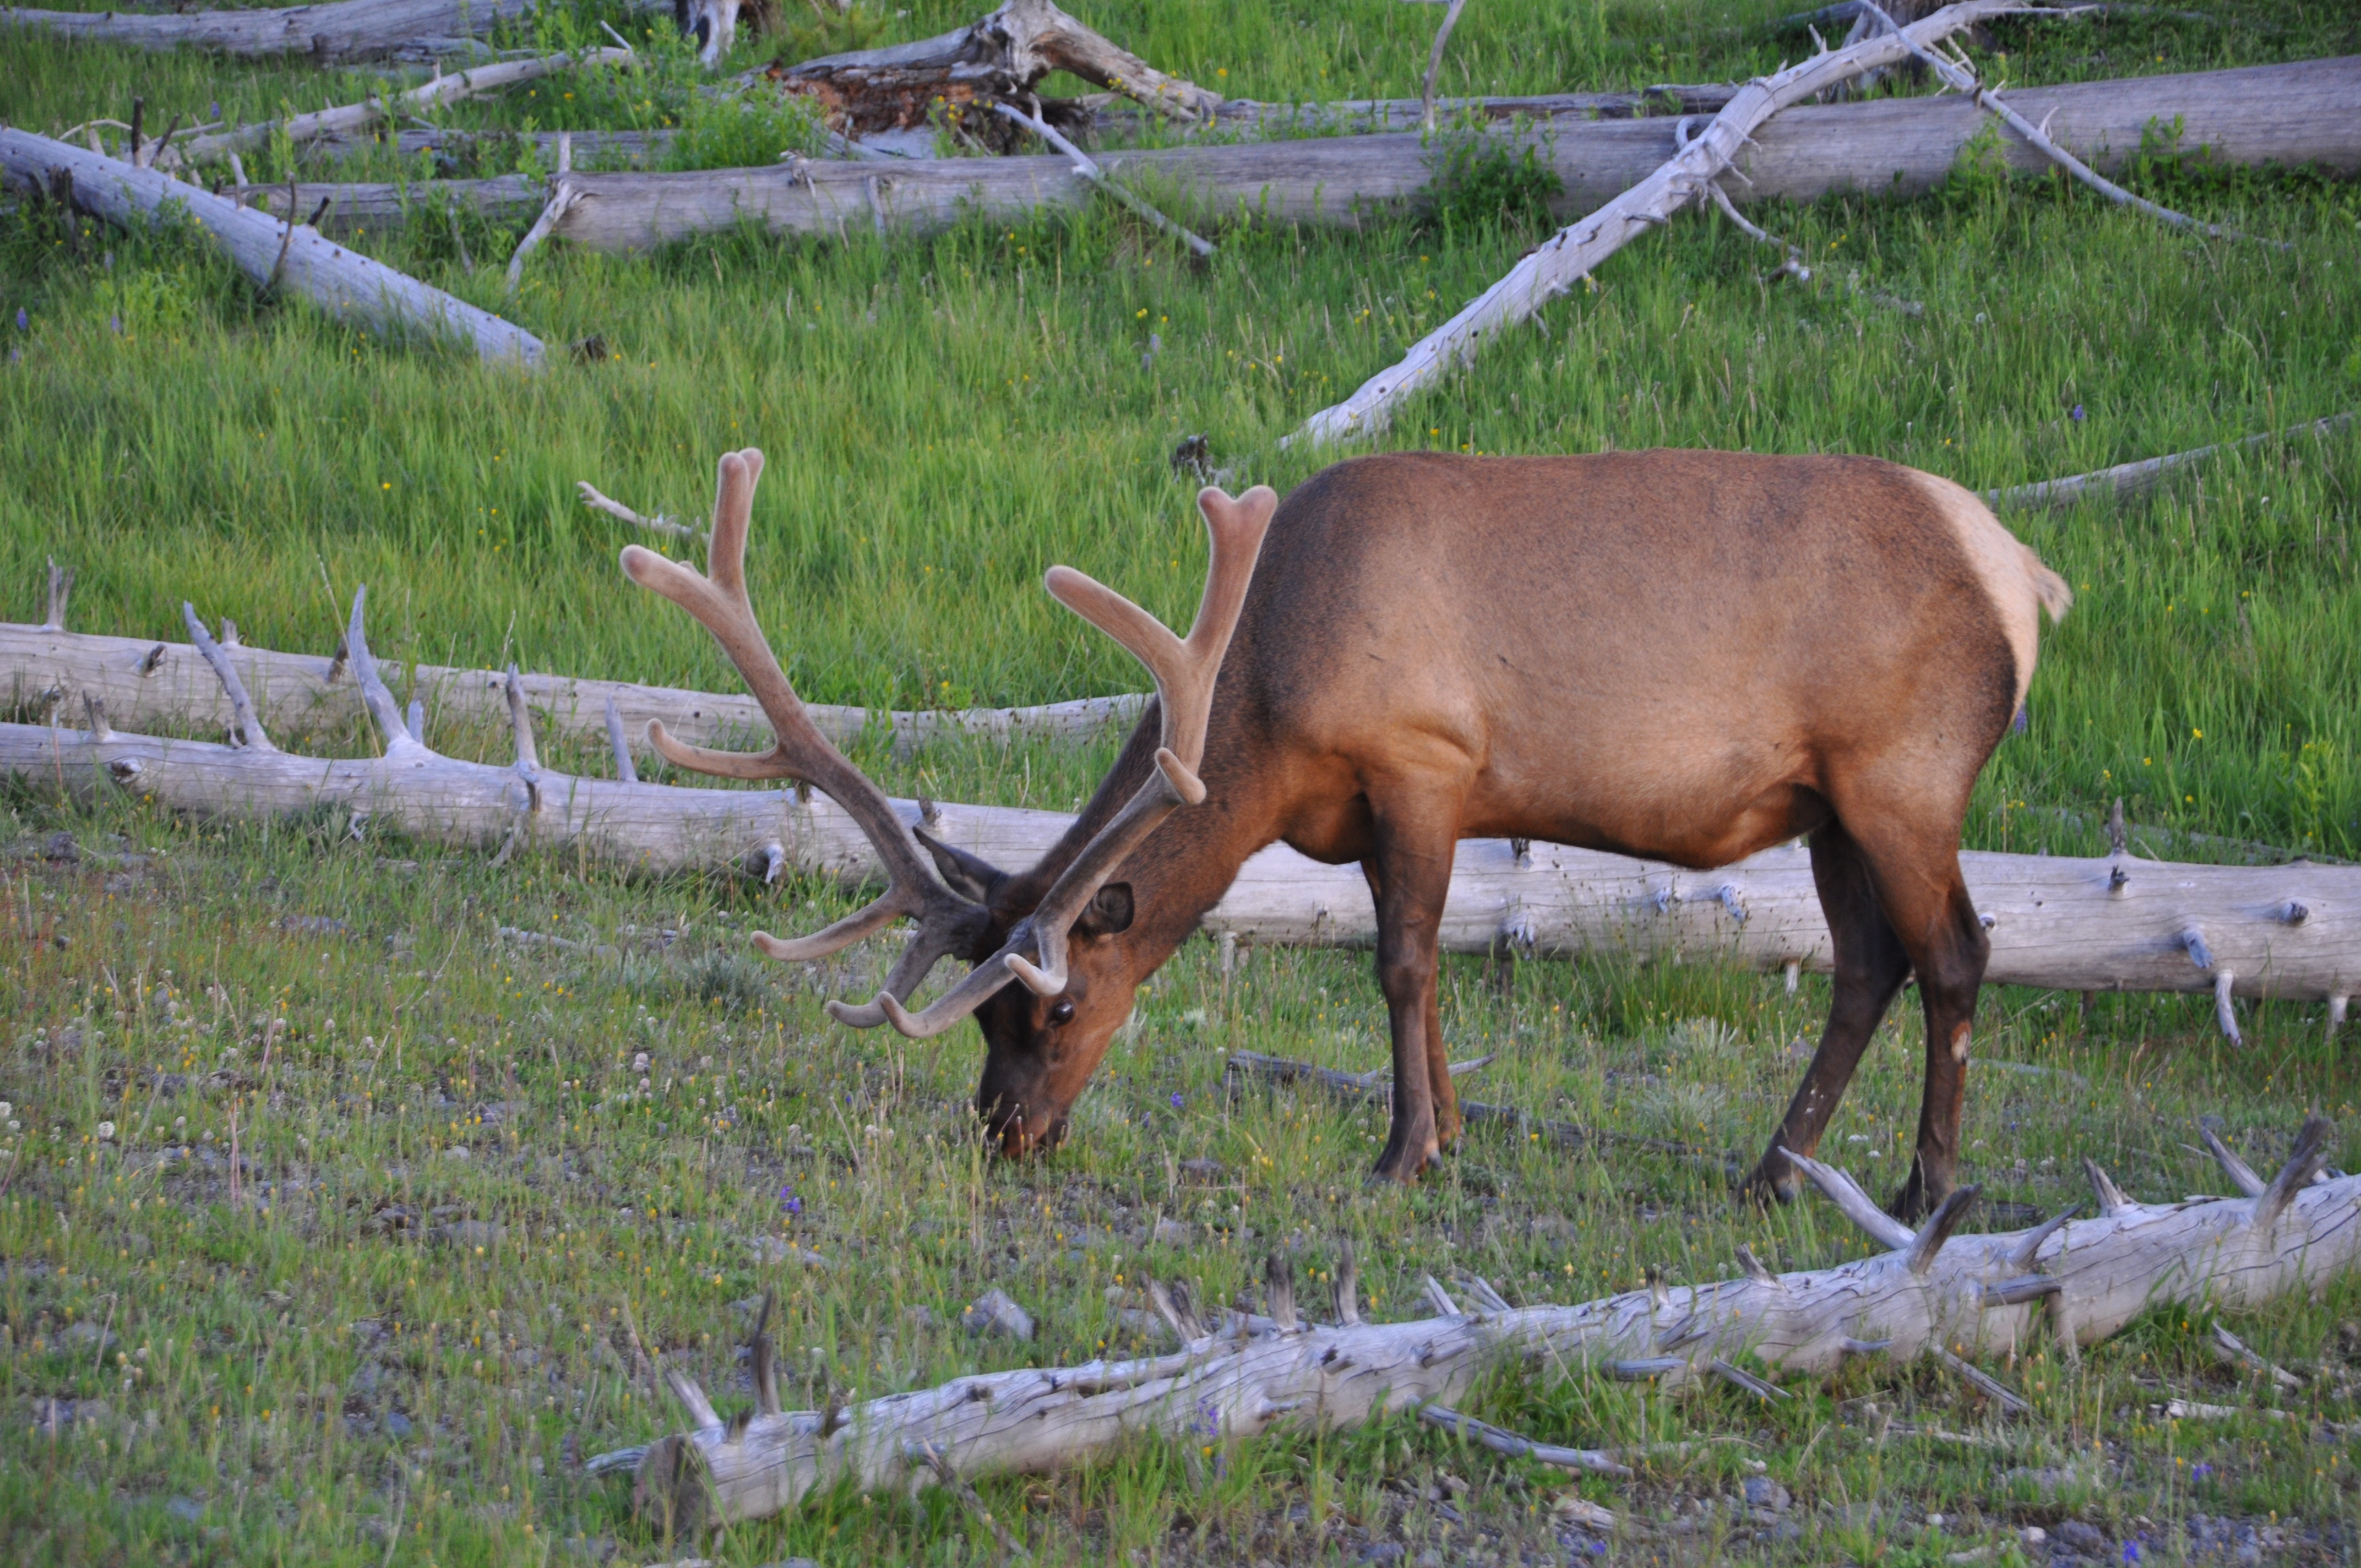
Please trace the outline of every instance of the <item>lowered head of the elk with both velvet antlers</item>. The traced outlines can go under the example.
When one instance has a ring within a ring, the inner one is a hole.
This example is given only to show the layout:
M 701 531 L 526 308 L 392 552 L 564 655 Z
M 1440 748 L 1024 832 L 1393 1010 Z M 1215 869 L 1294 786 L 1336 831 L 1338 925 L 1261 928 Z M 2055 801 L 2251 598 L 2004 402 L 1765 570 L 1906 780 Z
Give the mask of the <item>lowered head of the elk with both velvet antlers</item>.
M 1268 486 L 1235 501 L 1211 486 L 1197 494 L 1211 564 L 1188 638 L 1176 638 L 1152 614 L 1072 567 L 1048 569 L 1051 597 L 1121 642 L 1155 675 L 1162 744 L 1131 801 L 1058 869 L 1048 890 L 1032 897 L 1036 876 L 1003 876 L 926 834 L 914 841 L 885 793 L 803 711 L 746 600 L 746 524 L 760 477 L 760 451 L 722 453 L 706 574 L 640 545 L 623 548 L 623 574 L 713 633 L 770 718 L 777 741 L 758 756 L 706 751 L 675 741 L 661 723 L 649 723 L 647 739 L 680 767 L 727 779 L 803 779 L 845 808 L 885 867 L 885 893 L 807 937 L 781 942 L 758 930 L 756 947 L 774 959 L 810 961 L 911 916 L 916 930 L 876 999 L 829 1001 L 829 1013 L 857 1030 L 892 1023 L 911 1039 L 942 1034 L 975 1013 L 985 1030 L 977 1115 L 1008 1155 L 1048 1148 L 1131 1013 L 1136 975 L 1107 961 L 1133 916 L 1131 886 L 1114 874 L 1169 815 L 1204 801 L 1197 770 L 1204 765 L 1214 680 L 1280 498 Z M 928 855 L 918 855 L 918 843 Z M 911 992 L 951 954 L 973 963 L 968 975 L 911 1011 Z

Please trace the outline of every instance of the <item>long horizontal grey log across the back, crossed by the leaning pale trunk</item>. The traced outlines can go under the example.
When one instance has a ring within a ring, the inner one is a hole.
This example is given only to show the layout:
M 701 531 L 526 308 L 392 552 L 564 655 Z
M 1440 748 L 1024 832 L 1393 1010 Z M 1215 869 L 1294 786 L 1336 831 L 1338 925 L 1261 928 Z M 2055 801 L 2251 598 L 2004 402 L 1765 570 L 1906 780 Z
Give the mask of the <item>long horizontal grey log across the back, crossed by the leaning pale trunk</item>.
M 2174 118 L 2184 125 L 2182 144 L 2203 146 L 2219 163 L 2361 170 L 2361 116 L 2344 113 L 2356 94 L 2361 57 L 2026 87 L 2012 99 L 2035 120 L 2047 118 L 2054 142 L 2101 170 L 2120 170 L 2137 156 L 2151 123 Z M 1981 123 L 1983 111 L 1960 97 L 1787 109 L 1761 125 L 1754 146 L 1733 161 L 1731 168 L 1752 184 L 1733 184 L 1731 198 L 1747 205 L 1811 201 L 1830 191 L 1922 194 L 1950 175 Z M 1509 149 L 1532 146 L 1561 182 L 1551 213 L 1570 217 L 1660 170 L 1676 153 L 1676 125 L 1674 118 L 1643 118 L 1551 130 L 1506 125 L 1483 135 L 1499 137 Z M 2016 170 L 2049 168 L 2030 146 L 2009 142 L 2000 151 Z M 1249 213 L 1263 222 L 1348 229 L 1424 210 L 1431 156 L 1433 149 L 1417 135 L 1093 153 L 1107 175 L 1157 191 L 1157 205 L 1183 222 Z M 571 184 L 583 201 L 552 239 L 593 250 L 647 250 L 732 231 L 746 220 L 772 234 L 838 239 L 848 229 L 869 229 L 878 213 L 895 234 L 933 234 L 970 215 L 1008 222 L 1046 208 L 1081 208 L 1096 191 L 1060 156 L 803 158 L 685 175 L 576 170 Z M 309 213 L 333 198 L 331 224 L 382 229 L 406 222 L 423 198 L 437 194 L 510 222 L 529 222 L 548 201 L 545 187 L 515 182 L 501 189 L 467 179 L 305 182 L 295 189 L 295 205 Z M 257 196 L 272 210 L 286 210 L 286 187 Z

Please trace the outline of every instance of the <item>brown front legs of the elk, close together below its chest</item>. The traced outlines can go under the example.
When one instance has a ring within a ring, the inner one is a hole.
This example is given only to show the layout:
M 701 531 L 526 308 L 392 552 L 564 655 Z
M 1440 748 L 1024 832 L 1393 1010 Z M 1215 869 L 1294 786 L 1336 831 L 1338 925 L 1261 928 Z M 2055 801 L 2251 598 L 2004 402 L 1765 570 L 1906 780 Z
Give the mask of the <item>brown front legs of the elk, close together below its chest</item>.
M 1417 1181 L 1443 1159 L 1443 1136 L 1459 1133 L 1459 1098 L 1443 1056 L 1443 1001 L 1435 980 L 1443 900 L 1459 843 L 1454 810 L 1407 810 L 1372 801 L 1376 848 L 1362 862 L 1376 897 L 1376 985 L 1393 1027 L 1393 1124 L 1374 1181 Z

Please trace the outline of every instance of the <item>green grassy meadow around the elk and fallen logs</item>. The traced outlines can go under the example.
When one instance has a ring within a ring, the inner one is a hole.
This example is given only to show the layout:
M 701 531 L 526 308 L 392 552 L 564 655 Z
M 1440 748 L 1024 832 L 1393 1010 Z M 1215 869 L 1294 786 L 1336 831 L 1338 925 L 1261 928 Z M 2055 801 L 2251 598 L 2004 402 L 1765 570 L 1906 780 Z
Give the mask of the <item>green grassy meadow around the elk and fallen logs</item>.
M 1159 66 L 1263 99 L 1414 94 L 1440 14 L 1074 9 Z M 1733 78 L 1809 47 L 1771 26 L 1785 9 L 1478 0 L 1445 85 Z M 593 40 L 602 17 L 635 38 L 649 26 L 588 5 L 515 43 Z M 963 19 L 949 0 L 807 9 L 741 43 L 732 68 Z M 673 123 L 689 132 L 678 165 L 767 161 L 803 132 L 789 113 L 722 113 L 678 50 L 645 47 L 659 57 L 645 76 L 538 83 L 446 123 Z M 2304 0 L 2014 21 L 1974 45 L 2016 83 L 2354 50 L 2349 7 Z M 378 80 L 0 31 L 0 120 L 45 132 L 127 118 L 132 94 L 156 128 L 212 104 L 255 118 L 352 102 Z M 2288 248 L 2186 239 L 1974 158 L 1924 201 L 1759 215 L 1811 255 L 1811 286 L 1764 281 L 1768 253 L 1683 217 L 1405 409 L 1386 444 L 1844 449 L 1988 489 L 2361 406 L 2361 191 L 2215 170 L 2165 142 L 2130 184 Z M 472 168 L 517 156 L 489 142 Z M 281 146 L 250 170 L 283 177 L 288 161 Z M 349 168 L 394 163 L 380 149 Z M 1173 446 L 1204 435 L 1240 486 L 1313 472 L 1325 458 L 1277 439 L 1539 236 L 1487 194 L 1471 182 L 1428 220 L 1355 236 L 1228 227 L 1206 267 L 1105 208 L 928 241 L 555 248 L 515 302 L 501 279 L 515 229 L 359 239 L 550 345 L 609 345 L 538 378 L 260 298 L 187 234 L 0 205 L 0 619 L 40 616 L 54 555 L 80 574 L 80 631 L 177 638 L 187 597 L 248 642 L 328 649 L 368 583 L 373 642 L 399 659 L 732 687 L 701 631 L 623 583 L 626 534 L 574 482 L 694 512 L 713 456 L 758 444 L 753 593 L 807 697 L 1133 690 L 1126 656 L 1041 595 L 1041 569 L 1084 567 L 1185 619 L 1204 557 Z M 1971 843 L 2089 852 L 2123 796 L 2189 857 L 2262 843 L 2361 860 L 2356 520 L 2352 430 L 2222 456 L 2137 505 L 2012 517 L 2078 605 L 2045 635 L 2030 725 L 1988 770 Z M 491 732 L 432 739 L 503 756 Z M 604 767 L 567 744 L 545 756 Z M 1107 756 L 864 760 L 895 791 L 1072 808 Z M 1183 949 L 1070 1145 L 1015 1169 L 970 1136 L 970 1032 L 838 1030 L 812 973 L 748 952 L 751 928 L 807 930 L 845 907 L 817 883 L 647 881 L 555 857 L 493 869 L 333 819 L 189 822 L 14 784 L 0 902 L 12 1563 L 996 1561 L 992 1533 L 940 1490 L 836 1492 L 668 1544 L 630 1521 L 626 1481 L 581 1462 L 678 1422 L 635 1374 L 635 1339 L 725 1412 L 744 1405 L 737 1355 L 765 1289 L 784 1393 L 819 1405 L 1147 1348 L 1145 1278 L 1230 1301 L 1275 1244 L 1301 1275 L 1353 1237 L 1379 1318 L 1426 1311 L 1426 1273 L 1575 1301 L 1646 1268 L 1721 1278 L 1740 1242 L 1775 1268 L 1860 1252 L 1818 1202 L 1757 1214 L 1716 1176 L 1622 1148 L 1568 1157 L 1471 1133 L 1419 1190 L 1365 1190 L 1379 1112 L 1223 1084 L 1240 1048 L 1379 1065 L 1384 1006 L 1360 954 L 1261 952 L 1225 985 L 1206 945 Z M 501 928 L 607 952 L 519 947 Z M 857 971 L 881 963 L 855 954 Z M 1502 978 L 1454 959 L 1445 973 L 1454 1053 L 1497 1053 L 1478 1098 L 1750 1157 L 1825 1008 L 1825 982 L 1790 997 L 1719 966 L 1601 956 Z M 2323 1008 L 2241 1011 L 2236 1051 L 2210 999 L 1988 992 L 1969 1178 L 2045 1211 L 2085 1195 L 2085 1155 L 2134 1197 L 2217 1190 L 2191 1152 L 2200 1119 L 2269 1169 L 2304 1108 L 2337 1117 L 2335 1162 L 2361 1164 L 2361 1072 Z M 1872 1190 L 1908 1162 L 1917 1077 L 1919 1023 L 1898 1011 L 1825 1145 Z M 961 1327 L 992 1287 L 1036 1318 L 1032 1344 Z M 2349 1561 L 2361 1280 L 2236 1318 L 2248 1344 L 2316 1374 L 2300 1393 L 2231 1379 L 2210 1325 L 2158 1313 L 2078 1363 L 1993 1367 L 2033 1400 L 2019 1419 L 1941 1370 L 1875 1360 L 1797 1381 L 1775 1407 L 1523 1370 L 1469 1403 L 1539 1440 L 1700 1443 L 1624 1485 L 1388 1422 L 1216 1452 L 1140 1445 L 980 1490 L 1048 1563 Z M 2153 1415 L 2177 1396 L 2243 1415 Z M 1627 1528 L 1561 1523 L 1568 1495 Z

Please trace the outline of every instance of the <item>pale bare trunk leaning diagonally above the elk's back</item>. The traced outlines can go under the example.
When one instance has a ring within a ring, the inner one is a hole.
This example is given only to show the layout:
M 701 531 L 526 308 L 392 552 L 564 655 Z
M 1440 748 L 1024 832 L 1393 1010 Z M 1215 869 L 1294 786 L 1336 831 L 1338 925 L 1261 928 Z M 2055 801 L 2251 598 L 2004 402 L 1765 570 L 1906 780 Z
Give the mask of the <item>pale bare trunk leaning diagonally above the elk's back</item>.
M 1714 179 L 1738 161 L 1738 153 L 1757 139 L 1754 132 L 1783 109 L 1839 87 L 1863 71 L 1910 59 L 1912 52 L 2009 9 L 2019 7 L 2009 0 L 1960 0 L 1903 31 L 1863 38 L 1842 50 L 1820 50 L 1799 66 L 1747 83 L 1705 130 L 1693 137 L 1686 128 L 1679 130 L 1672 158 L 1617 191 L 1605 205 L 1535 246 L 1504 279 L 1410 345 L 1400 364 L 1365 380 L 1341 404 L 1303 420 L 1287 442 L 1322 446 L 1384 430 L 1393 420 L 1395 404 L 1473 359 L 1485 333 L 1499 335 L 1502 328 L 1539 314 L 1544 305 L 1587 279 L 1594 267 L 1646 234 L 1648 227 L 1667 224 L 1674 213 L 1698 203 Z

